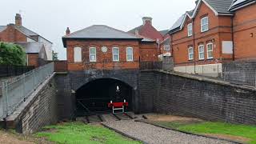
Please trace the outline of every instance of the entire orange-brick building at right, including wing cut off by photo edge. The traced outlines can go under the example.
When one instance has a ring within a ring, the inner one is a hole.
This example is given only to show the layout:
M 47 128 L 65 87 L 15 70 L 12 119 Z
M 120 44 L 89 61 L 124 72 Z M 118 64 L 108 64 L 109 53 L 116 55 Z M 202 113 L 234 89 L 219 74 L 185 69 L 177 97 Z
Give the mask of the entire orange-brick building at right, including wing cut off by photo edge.
M 218 76 L 222 62 L 255 58 L 255 1 L 198 0 L 170 28 L 174 70 Z

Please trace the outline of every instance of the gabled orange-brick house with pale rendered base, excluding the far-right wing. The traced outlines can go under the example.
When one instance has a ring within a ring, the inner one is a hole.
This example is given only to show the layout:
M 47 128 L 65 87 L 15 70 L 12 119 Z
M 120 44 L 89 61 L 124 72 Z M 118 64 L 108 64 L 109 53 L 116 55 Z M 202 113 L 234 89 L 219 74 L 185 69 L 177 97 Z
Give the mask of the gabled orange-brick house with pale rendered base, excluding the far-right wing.
M 198 0 L 170 28 L 174 70 L 217 77 L 233 59 L 232 0 Z

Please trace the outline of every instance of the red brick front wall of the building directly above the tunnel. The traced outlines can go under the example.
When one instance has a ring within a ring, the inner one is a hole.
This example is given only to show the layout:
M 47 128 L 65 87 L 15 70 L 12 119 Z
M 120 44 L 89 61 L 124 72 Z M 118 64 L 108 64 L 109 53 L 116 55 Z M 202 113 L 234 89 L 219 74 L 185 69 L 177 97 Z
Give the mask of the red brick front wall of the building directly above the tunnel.
M 82 48 L 82 62 L 74 62 L 74 47 Z M 108 48 L 106 54 L 102 53 L 102 46 Z M 67 41 L 68 70 L 86 69 L 138 69 L 139 68 L 139 42 L 138 41 Z M 90 62 L 89 48 L 96 47 L 97 62 Z M 112 47 L 119 47 L 119 62 L 113 62 Z M 134 61 L 126 62 L 126 47 L 133 47 Z M 105 59 L 105 60 L 104 60 Z

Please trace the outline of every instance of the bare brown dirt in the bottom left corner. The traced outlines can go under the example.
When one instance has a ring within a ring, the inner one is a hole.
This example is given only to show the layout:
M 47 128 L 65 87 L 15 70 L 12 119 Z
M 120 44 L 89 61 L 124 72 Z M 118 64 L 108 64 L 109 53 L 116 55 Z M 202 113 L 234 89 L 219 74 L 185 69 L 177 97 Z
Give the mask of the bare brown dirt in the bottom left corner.
M 0 130 L 0 144 L 50 144 L 43 138 L 34 138 L 30 135 L 14 134 L 10 131 Z

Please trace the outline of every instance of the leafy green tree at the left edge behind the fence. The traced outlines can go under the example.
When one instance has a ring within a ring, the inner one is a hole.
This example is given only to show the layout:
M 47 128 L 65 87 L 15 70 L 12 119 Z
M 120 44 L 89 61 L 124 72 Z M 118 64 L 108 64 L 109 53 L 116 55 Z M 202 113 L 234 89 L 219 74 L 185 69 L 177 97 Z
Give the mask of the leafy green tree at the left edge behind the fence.
M 25 66 L 24 48 L 13 43 L 0 42 L 0 65 Z

